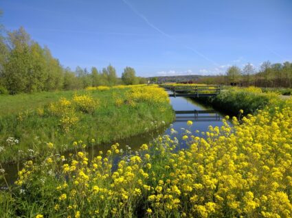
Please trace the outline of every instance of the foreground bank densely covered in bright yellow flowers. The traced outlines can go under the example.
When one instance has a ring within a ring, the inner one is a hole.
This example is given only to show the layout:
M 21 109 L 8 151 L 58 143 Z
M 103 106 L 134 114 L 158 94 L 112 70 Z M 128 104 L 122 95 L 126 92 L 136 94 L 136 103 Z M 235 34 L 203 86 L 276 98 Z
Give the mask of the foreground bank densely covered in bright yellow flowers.
M 189 148 L 179 152 L 176 134 L 136 154 L 113 145 L 92 161 L 85 152 L 57 156 L 58 145 L 47 145 L 0 193 L 0 216 L 291 217 L 291 108 L 292 99 L 270 99 L 205 138 L 189 121 Z

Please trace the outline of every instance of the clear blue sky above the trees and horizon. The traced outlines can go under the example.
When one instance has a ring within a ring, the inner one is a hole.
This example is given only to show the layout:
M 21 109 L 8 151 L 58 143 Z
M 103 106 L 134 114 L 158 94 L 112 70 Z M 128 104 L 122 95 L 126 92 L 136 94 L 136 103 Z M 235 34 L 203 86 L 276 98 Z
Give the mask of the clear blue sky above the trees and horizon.
M 292 61 L 291 0 L 0 0 L 0 9 L 7 29 L 23 26 L 71 69 L 212 75 Z

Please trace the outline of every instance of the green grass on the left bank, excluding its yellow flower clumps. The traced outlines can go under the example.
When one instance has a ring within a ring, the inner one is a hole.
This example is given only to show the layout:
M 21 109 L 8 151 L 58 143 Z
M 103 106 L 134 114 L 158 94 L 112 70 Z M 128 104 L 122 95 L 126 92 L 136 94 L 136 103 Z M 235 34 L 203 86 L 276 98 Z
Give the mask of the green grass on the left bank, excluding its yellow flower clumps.
M 42 154 L 49 142 L 58 145 L 56 149 L 60 153 L 72 149 L 76 138 L 87 145 L 91 144 L 92 138 L 96 141 L 95 145 L 118 142 L 122 138 L 153 130 L 153 121 L 157 121 L 160 127 L 174 119 L 172 107 L 167 101 L 161 104 L 139 101 L 131 106 L 127 102 L 128 90 L 130 88 L 1 96 L 0 143 L 5 150 L 0 161 L 11 162 L 26 158 L 31 154 L 28 149 L 33 149 L 34 155 Z M 58 101 L 60 97 L 71 99 L 74 93 L 90 93 L 93 99 L 98 100 L 98 106 L 92 113 L 76 112 L 78 122 L 69 131 L 64 131 L 60 117 L 47 112 L 48 105 Z M 120 106 L 115 102 L 117 98 L 122 99 Z M 164 112 L 161 112 L 161 107 L 165 109 Z M 44 110 L 42 115 L 37 112 L 38 108 Z M 8 145 L 6 140 L 9 137 L 18 139 L 19 144 Z

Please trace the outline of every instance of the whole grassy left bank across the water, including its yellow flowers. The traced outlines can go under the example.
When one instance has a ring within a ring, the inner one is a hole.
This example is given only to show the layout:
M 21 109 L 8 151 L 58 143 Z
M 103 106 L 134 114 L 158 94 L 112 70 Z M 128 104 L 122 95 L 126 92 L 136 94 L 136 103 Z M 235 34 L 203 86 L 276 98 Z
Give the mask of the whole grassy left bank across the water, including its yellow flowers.
M 115 86 L 78 92 L 1 96 L 1 162 L 142 134 L 174 118 L 168 95 L 156 86 Z M 92 141 L 92 139 L 94 139 Z

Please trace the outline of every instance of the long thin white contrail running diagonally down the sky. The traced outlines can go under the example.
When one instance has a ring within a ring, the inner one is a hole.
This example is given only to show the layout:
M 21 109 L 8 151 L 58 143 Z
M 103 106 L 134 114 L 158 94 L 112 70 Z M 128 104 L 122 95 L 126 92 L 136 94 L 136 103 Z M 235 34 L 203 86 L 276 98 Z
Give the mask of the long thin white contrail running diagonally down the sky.
M 146 16 L 144 16 L 143 14 L 139 13 L 130 3 L 128 3 L 126 0 L 122 0 L 126 5 L 128 5 L 129 8 L 131 8 L 131 10 L 137 15 L 139 16 L 142 20 L 145 21 L 145 23 L 150 26 L 151 28 L 155 29 L 157 32 L 159 32 L 160 34 L 166 36 L 167 38 L 170 38 L 173 41 L 176 41 L 178 43 L 180 43 L 181 45 L 183 45 L 183 43 L 177 41 L 176 38 L 174 38 L 173 36 L 170 36 L 169 34 L 166 34 L 165 32 L 163 32 L 161 29 L 159 29 L 158 27 L 156 27 L 155 25 L 153 25 L 153 23 L 150 23 L 148 21 L 148 19 L 146 18 Z M 219 66 L 219 64 L 217 64 L 216 62 L 214 62 L 213 60 L 211 60 L 210 58 L 207 58 L 205 55 L 203 55 L 203 53 L 199 52 L 198 50 L 187 46 L 187 45 L 183 45 L 184 48 L 189 49 L 190 51 L 193 51 L 194 53 L 196 53 L 197 55 L 201 56 L 202 58 L 204 58 L 205 60 L 207 60 L 208 62 L 211 62 L 212 64 Z

